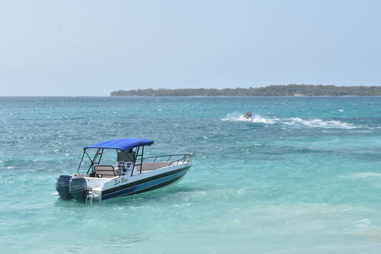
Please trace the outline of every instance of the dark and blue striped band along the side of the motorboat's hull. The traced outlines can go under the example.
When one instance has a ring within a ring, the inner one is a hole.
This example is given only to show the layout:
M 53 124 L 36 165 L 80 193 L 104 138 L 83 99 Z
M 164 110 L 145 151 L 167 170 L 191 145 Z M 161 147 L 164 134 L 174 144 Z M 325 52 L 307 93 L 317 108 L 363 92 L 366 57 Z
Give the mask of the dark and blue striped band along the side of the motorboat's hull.
M 104 195 L 104 196 L 102 196 L 102 201 L 106 200 L 106 199 L 110 199 L 110 198 L 116 198 L 116 197 L 120 197 L 120 196 L 131 195 L 131 194 L 136 193 L 136 192 L 142 193 L 142 192 L 145 192 L 144 189 L 148 189 L 147 191 L 154 190 L 154 189 L 156 189 L 156 188 L 154 188 L 155 185 L 160 185 L 160 186 L 157 186 L 157 188 L 161 188 L 163 186 L 171 184 L 173 182 L 171 180 L 173 180 L 174 178 L 178 178 L 178 179 L 176 179 L 176 181 L 180 180 L 182 177 L 184 177 L 184 175 L 187 173 L 187 171 L 188 170 L 184 170 L 184 171 L 179 172 L 179 173 L 174 174 L 174 175 L 169 175 L 167 177 L 159 178 L 159 179 L 153 180 L 151 182 L 142 183 L 140 185 L 132 186 L 132 187 L 126 188 L 124 190 L 120 190 L 120 191 L 116 191 L 114 193 Z M 165 184 L 166 182 L 168 182 L 168 184 Z

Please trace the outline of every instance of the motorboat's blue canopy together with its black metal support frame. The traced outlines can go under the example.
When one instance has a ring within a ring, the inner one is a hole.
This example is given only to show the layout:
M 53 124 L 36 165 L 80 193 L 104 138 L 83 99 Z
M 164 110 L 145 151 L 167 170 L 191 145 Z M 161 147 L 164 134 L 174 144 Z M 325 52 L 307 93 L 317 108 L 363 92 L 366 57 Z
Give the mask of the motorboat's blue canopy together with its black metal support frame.
M 90 169 L 92 172 L 94 172 L 94 165 L 99 165 L 99 163 L 101 162 L 101 158 L 102 158 L 102 154 L 103 154 L 104 149 L 115 149 L 115 150 L 117 150 L 118 161 L 119 161 L 118 150 L 120 150 L 120 151 L 123 151 L 126 154 L 126 156 L 131 160 L 133 167 L 142 165 L 144 146 L 146 146 L 146 145 L 150 146 L 153 143 L 154 143 L 154 141 L 152 141 L 150 139 L 122 138 L 122 139 L 115 139 L 115 140 L 107 140 L 107 141 L 103 141 L 101 143 L 97 143 L 97 144 L 94 144 L 91 146 L 86 146 L 83 148 L 83 155 L 82 155 L 82 159 L 81 159 L 81 162 L 79 164 L 77 173 L 79 172 L 79 169 L 81 167 L 83 157 L 85 156 L 85 154 L 87 155 L 87 157 L 91 161 L 91 165 L 88 168 L 86 174 L 89 174 Z M 140 147 L 142 148 L 141 154 L 139 154 Z M 87 149 L 91 149 L 91 148 L 97 149 L 96 154 L 94 155 L 93 159 L 91 159 L 90 156 L 88 155 L 88 153 L 86 152 Z M 130 158 L 130 156 L 126 153 L 126 151 L 132 150 L 133 148 L 136 148 L 135 149 L 135 156 L 134 156 L 134 158 Z M 136 164 L 138 157 L 140 157 L 140 164 Z M 133 170 L 131 170 L 131 176 L 132 176 L 132 174 L 133 174 Z

